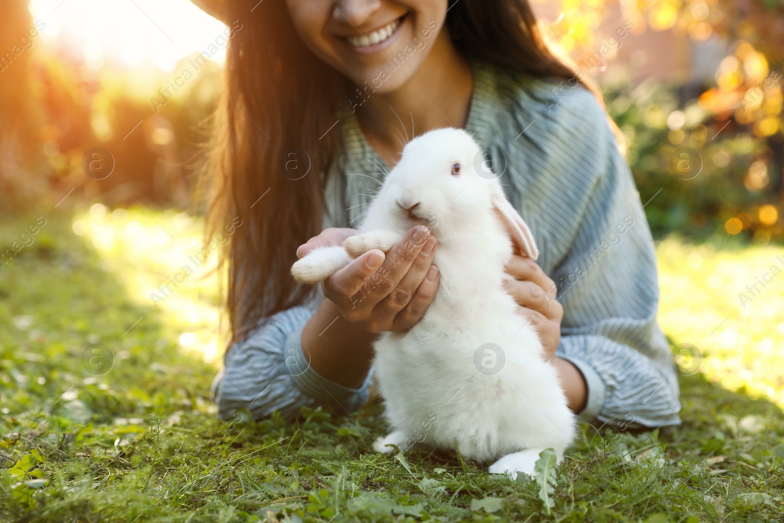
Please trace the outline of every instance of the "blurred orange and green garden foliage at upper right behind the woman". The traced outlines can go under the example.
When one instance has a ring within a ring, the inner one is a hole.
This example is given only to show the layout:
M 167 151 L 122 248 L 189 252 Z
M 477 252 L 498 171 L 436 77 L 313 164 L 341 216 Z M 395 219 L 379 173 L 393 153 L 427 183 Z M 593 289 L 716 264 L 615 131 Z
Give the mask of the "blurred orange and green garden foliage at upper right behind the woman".
M 590 66 L 612 3 L 561 0 L 543 29 L 579 66 Z M 654 231 L 784 238 L 784 0 L 617 3 L 636 34 L 673 31 L 695 42 L 728 42 L 715 82 L 697 85 L 695 99 L 676 96 L 678 86 L 647 81 L 604 85 L 608 109 L 631 144 L 641 196 L 656 195 L 646 206 Z M 591 74 L 593 66 L 581 68 Z

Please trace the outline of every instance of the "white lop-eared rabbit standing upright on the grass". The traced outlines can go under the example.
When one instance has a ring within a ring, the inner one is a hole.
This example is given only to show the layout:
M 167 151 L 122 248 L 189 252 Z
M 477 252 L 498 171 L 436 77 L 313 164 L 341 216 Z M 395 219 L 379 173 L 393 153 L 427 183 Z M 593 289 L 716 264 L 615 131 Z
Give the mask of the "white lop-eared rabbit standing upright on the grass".
M 513 478 L 533 475 L 543 449 L 561 460 L 575 416 L 539 336 L 503 289 L 509 231 L 525 256 L 535 260 L 539 252 L 465 131 L 437 129 L 409 142 L 370 205 L 363 234 L 343 248 L 315 249 L 292 274 L 321 281 L 369 249 L 389 251 L 416 223 L 438 238 L 441 283 L 419 323 L 376 341 L 376 376 L 393 431 L 373 448 L 390 452 L 412 439 L 457 445 L 468 458 L 497 459 L 489 471 Z M 387 252 L 387 259 L 400 254 Z

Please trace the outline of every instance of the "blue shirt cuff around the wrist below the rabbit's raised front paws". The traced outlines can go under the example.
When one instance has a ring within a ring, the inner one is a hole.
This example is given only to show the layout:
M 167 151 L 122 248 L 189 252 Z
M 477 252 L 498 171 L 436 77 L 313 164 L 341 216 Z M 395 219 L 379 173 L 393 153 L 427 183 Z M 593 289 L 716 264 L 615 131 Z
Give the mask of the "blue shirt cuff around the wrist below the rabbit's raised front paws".
M 285 345 L 286 373 L 304 394 L 321 403 L 332 405 L 336 412 L 346 414 L 358 410 L 365 401 L 368 401 L 369 387 L 372 381 L 373 369 L 368 372 L 365 383 L 358 389 L 344 387 L 340 383 L 328 380 L 321 376 L 310 366 L 309 358 L 305 357 L 302 346 L 302 332 L 305 325 L 295 329 L 289 335 Z

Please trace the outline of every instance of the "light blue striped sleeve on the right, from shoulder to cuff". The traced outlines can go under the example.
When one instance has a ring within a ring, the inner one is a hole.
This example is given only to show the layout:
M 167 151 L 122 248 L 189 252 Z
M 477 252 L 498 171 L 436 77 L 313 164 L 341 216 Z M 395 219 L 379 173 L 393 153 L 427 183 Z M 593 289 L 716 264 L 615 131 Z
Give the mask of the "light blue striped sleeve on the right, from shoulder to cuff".
M 602 124 L 599 135 L 609 132 Z M 653 238 L 626 158 L 615 140 L 602 143 L 592 151 L 604 157 L 602 172 L 575 207 L 579 225 L 571 248 L 551 274 L 564 307 L 557 356 L 585 377 L 581 419 L 622 427 L 677 425 L 677 373 L 656 324 Z

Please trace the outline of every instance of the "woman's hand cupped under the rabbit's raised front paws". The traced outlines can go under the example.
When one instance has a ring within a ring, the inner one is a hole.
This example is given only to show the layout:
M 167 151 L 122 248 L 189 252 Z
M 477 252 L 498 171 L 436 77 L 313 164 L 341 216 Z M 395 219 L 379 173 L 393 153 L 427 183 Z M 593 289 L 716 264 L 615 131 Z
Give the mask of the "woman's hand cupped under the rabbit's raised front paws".
M 302 257 L 325 245 L 343 245 L 355 229 L 325 229 L 297 249 Z M 321 282 L 347 321 L 368 332 L 405 332 L 422 319 L 438 289 L 438 267 L 433 265 L 437 240 L 425 227 L 412 227 L 385 255 L 372 249 Z

